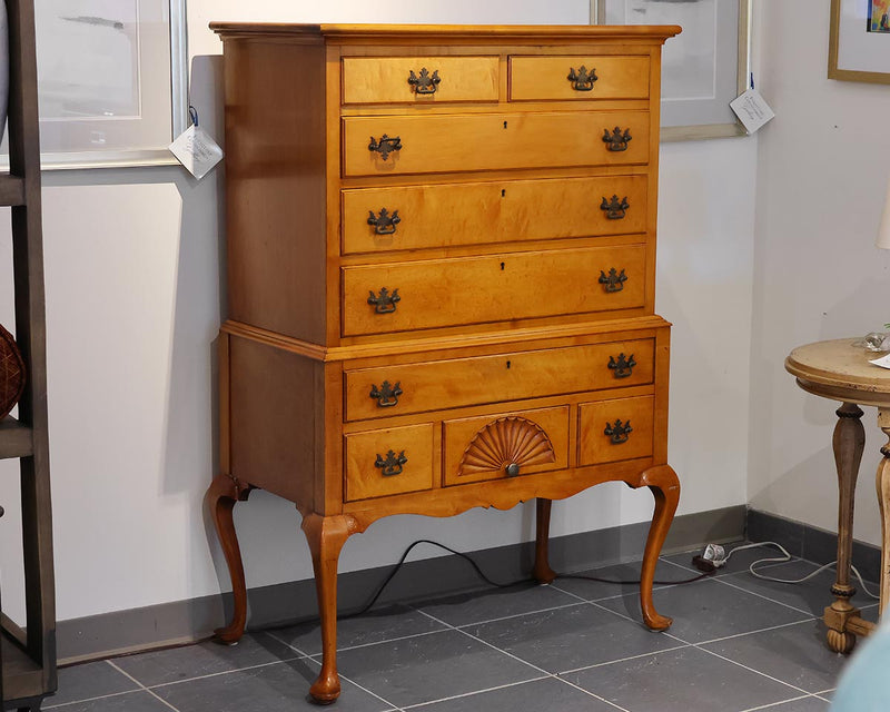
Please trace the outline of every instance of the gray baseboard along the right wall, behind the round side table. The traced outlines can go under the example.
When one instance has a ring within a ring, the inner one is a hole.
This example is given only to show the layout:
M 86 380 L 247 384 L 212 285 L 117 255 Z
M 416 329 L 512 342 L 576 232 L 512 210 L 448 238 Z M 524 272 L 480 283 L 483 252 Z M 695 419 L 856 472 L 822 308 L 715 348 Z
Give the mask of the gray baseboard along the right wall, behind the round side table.
M 749 510 L 746 538 L 752 542 L 777 542 L 792 556 L 815 564 L 828 564 L 838 558 L 838 533 L 787 520 L 758 510 Z M 853 541 L 853 566 L 866 581 L 881 578 L 881 548 Z

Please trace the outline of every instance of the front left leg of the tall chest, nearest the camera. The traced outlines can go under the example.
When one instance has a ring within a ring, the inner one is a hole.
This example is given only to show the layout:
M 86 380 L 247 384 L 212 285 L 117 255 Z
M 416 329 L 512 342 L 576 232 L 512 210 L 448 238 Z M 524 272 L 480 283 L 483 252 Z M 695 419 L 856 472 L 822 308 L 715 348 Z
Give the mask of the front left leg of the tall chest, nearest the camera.
M 355 520 L 347 515 L 306 514 L 303 517 L 303 531 L 313 555 L 318 614 L 322 619 L 322 671 L 309 694 L 316 702 L 328 704 L 340 694 L 337 674 L 337 561 L 346 540 L 358 530 Z

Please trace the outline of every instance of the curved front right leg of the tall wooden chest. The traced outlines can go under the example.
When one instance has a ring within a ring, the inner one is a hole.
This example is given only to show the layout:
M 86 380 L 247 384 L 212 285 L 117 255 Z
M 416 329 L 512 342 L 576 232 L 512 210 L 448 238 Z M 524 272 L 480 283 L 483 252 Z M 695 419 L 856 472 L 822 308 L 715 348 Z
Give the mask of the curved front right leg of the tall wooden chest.
M 671 626 L 673 619 L 660 615 L 652 603 L 652 583 L 655 580 L 655 566 L 659 554 L 674 521 L 676 505 L 680 503 L 680 479 L 670 465 L 657 465 L 646 469 L 641 476 L 640 487 L 646 485 L 655 497 L 655 510 L 649 527 L 646 548 L 643 553 L 643 566 L 640 573 L 640 607 L 643 621 L 653 631 L 664 631 Z

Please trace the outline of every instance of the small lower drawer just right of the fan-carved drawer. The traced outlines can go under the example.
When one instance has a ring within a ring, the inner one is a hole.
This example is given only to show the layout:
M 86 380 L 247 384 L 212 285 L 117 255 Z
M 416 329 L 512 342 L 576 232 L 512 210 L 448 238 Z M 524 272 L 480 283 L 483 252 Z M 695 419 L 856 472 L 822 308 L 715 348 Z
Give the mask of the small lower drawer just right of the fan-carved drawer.
M 578 406 L 578 465 L 652 455 L 653 396 Z

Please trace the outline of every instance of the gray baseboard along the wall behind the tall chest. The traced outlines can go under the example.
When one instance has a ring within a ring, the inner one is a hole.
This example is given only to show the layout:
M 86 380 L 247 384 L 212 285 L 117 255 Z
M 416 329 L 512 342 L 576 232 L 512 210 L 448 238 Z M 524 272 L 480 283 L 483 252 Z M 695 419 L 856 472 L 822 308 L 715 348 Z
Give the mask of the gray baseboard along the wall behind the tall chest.
M 744 535 L 746 514 L 746 507 L 739 505 L 678 516 L 663 552 L 688 551 L 706 542 L 738 541 Z M 554 537 L 550 544 L 551 566 L 571 573 L 639 560 L 643 555 L 647 532 L 649 523 L 643 522 Z M 492 580 L 508 582 L 528 575 L 534 544 L 526 542 L 469 554 Z M 349 612 L 362 607 L 390 571 L 392 566 L 385 566 L 339 576 L 339 609 Z M 464 558 L 438 556 L 405 563 L 387 585 L 380 601 L 448 595 L 484 585 Z M 248 605 L 249 627 L 253 630 L 305 621 L 317 615 L 315 583 L 305 580 L 251 589 L 248 591 Z M 230 612 L 231 594 L 227 593 L 59 621 L 60 663 L 202 640 L 222 625 Z

